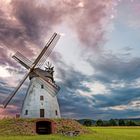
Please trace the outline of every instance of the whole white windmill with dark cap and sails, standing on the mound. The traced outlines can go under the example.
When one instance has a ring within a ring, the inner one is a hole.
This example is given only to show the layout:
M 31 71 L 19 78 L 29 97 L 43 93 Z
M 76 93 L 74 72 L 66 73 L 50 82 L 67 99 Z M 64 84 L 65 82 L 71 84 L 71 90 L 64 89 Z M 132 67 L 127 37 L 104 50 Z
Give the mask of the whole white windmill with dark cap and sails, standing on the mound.
M 54 33 L 37 59 L 32 63 L 21 53 L 16 52 L 13 56 L 22 66 L 29 70 L 23 80 L 18 84 L 15 90 L 6 98 L 3 103 L 4 108 L 9 104 L 24 81 L 29 77 L 30 84 L 22 105 L 21 117 L 23 118 L 60 118 L 57 93 L 59 87 L 53 79 L 53 67 L 48 63 L 45 70 L 40 69 L 46 58 L 52 52 L 52 49 L 59 40 L 60 35 Z

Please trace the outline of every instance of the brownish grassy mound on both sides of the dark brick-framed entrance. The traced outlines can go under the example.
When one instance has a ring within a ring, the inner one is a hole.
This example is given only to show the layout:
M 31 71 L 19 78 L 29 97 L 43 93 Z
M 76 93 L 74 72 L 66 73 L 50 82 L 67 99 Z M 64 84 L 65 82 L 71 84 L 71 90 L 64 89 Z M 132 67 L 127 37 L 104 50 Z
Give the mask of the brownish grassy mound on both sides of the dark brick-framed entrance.
M 88 133 L 87 128 L 75 120 L 50 119 L 54 123 L 55 133 L 62 131 L 80 131 L 80 134 Z M 0 135 L 37 135 L 37 119 L 9 118 L 0 120 Z

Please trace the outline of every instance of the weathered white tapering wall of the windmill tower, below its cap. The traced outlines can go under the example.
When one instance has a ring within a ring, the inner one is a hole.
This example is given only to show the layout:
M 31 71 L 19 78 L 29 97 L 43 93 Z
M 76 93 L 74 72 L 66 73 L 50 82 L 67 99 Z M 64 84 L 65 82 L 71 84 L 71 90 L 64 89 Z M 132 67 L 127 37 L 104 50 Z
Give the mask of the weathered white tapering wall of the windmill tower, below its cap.
M 41 88 L 41 85 L 44 88 Z M 44 118 L 60 118 L 60 109 L 57 101 L 57 96 L 52 96 L 54 91 L 50 91 L 49 87 L 45 81 L 40 78 L 32 78 L 30 81 L 29 88 L 27 90 L 27 95 L 25 97 L 21 117 L 22 118 L 40 118 L 40 109 L 44 109 Z M 40 100 L 40 96 L 44 97 L 44 100 Z M 26 114 L 28 110 L 28 114 Z M 57 110 L 57 115 L 56 115 Z

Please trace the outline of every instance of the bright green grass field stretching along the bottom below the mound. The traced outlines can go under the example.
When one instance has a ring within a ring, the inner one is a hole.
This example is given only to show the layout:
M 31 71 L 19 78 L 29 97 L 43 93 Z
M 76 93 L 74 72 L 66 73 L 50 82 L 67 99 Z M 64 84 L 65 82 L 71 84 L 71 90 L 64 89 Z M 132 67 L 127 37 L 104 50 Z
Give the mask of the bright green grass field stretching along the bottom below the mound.
M 91 127 L 92 134 L 77 137 L 62 135 L 0 136 L 0 140 L 140 140 L 140 127 Z

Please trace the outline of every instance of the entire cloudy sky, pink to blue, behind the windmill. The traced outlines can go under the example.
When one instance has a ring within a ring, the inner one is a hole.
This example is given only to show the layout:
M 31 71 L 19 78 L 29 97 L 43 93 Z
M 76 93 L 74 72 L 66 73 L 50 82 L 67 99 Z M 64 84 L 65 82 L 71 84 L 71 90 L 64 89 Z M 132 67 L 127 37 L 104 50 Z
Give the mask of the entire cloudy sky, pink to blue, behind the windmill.
M 0 0 L 0 104 L 26 70 L 18 50 L 34 60 L 53 32 L 50 56 L 62 117 L 140 117 L 139 0 Z M 20 112 L 29 80 L 0 117 Z

